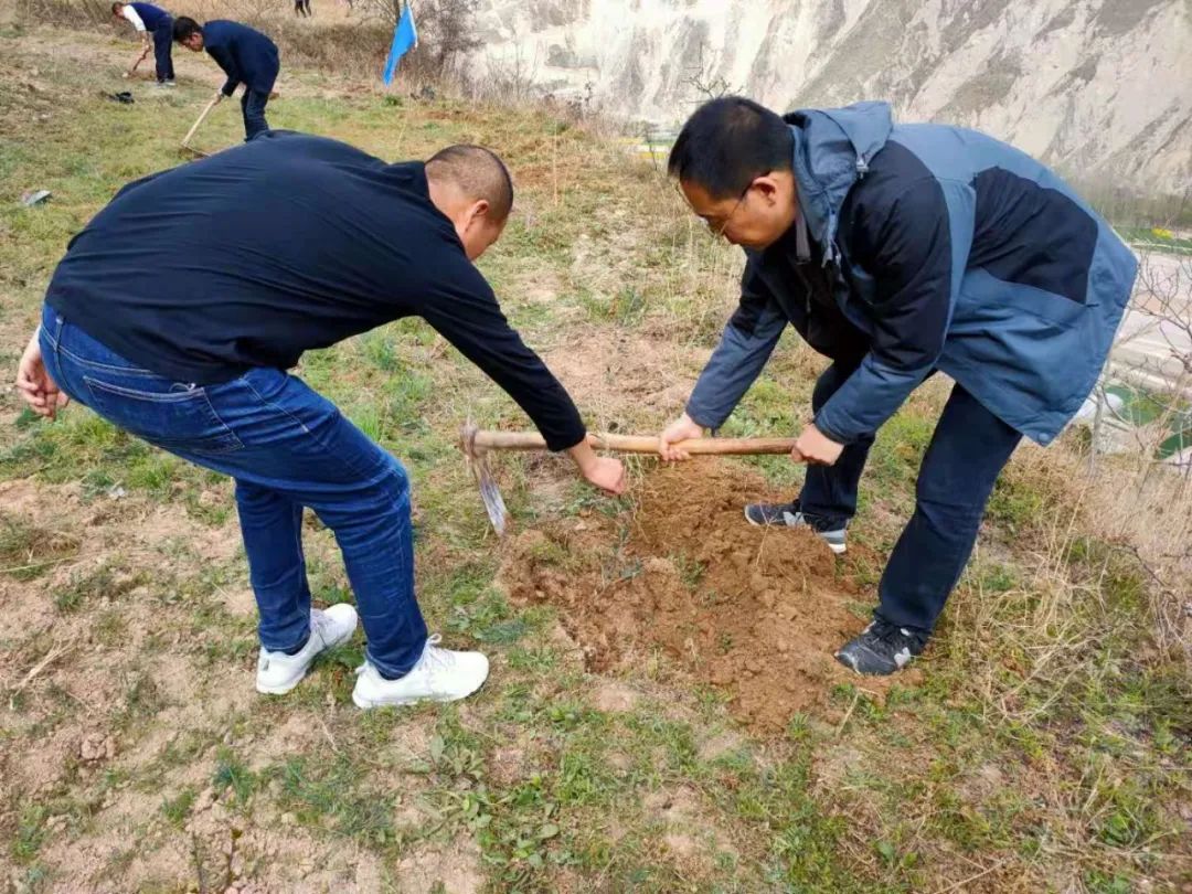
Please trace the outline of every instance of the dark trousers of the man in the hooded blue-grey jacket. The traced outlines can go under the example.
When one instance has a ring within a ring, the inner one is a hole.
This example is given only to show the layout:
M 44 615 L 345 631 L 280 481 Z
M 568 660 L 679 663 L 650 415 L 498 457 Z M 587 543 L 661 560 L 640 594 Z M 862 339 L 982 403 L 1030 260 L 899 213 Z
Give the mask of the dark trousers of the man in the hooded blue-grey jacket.
M 833 364 L 812 393 L 817 412 L 852 366 Z M 952 387 L 919 467 L 915 505 L 879 585 L 876 615 L 930 632 L 973 553 L 994 482 L 1022 435 L 960 385 Z M 874 439 L 844 448 L 833 466 L 808 466 L 800 493 L 805 513 L 844 522 L 857 511 L 857 484 Z

